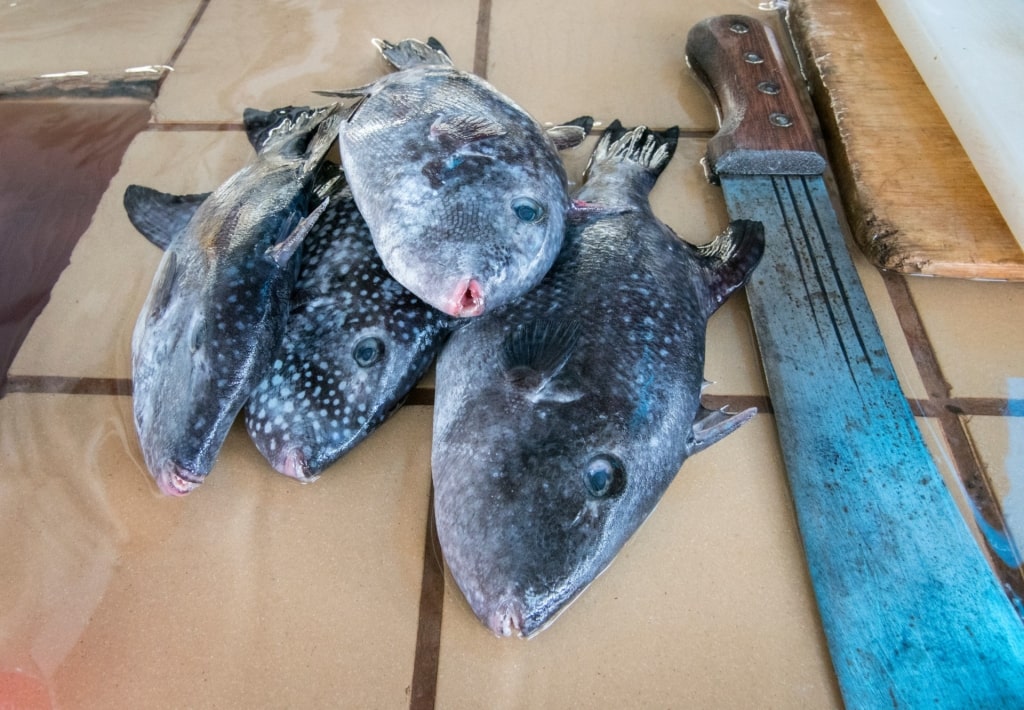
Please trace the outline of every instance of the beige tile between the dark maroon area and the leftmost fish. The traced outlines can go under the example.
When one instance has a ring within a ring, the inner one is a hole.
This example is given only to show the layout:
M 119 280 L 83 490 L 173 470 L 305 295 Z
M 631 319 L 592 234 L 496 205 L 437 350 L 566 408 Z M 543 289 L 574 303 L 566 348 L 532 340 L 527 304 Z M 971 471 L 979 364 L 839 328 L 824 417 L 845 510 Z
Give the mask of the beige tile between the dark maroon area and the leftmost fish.
M 128 377 L 131 332 L 161 252 L 128 221 L 125 187 L 136 182 L 167 193 L 208 192 L 251 154 L 241 131 L 140 133 L 10 374 Z

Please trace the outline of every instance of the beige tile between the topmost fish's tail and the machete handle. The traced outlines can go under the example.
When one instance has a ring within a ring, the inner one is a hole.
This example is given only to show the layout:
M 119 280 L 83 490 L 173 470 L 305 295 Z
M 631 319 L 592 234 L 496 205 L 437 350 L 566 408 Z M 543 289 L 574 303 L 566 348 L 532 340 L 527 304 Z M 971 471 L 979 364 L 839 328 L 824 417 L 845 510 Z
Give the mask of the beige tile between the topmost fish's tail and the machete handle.
M 686 67 L 686 34 L 710 15 L 759 14 L 757 5 L 494 3 L 487 79 L 543 121 L 561 120 L 568 112 L 627 125 L 712 130 L 715 111 Z

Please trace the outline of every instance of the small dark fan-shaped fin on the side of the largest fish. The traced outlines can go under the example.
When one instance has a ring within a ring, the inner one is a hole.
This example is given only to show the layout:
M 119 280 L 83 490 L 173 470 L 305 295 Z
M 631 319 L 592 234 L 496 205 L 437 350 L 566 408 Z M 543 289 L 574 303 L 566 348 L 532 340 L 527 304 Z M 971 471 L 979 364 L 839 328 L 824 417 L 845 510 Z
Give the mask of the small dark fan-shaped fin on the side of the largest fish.
M 505 376 L 523 389 L 540 391 L 565 367 L 580 340 L 579 321 L 532 321 L 505 339 Z

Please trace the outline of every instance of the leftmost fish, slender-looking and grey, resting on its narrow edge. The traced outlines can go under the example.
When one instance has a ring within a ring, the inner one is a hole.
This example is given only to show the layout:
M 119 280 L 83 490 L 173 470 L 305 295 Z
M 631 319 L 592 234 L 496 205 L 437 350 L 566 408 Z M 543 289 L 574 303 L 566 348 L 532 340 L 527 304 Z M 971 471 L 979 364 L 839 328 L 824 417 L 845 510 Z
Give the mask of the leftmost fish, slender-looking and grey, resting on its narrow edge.
M 132 410 L 146 468 L 194 491 L 284 332 L 303 239 L 327 207 L 312 186 L 337 105 L 288 108 L 250 135 L 257 154 L 209 195 L 129 185 L 129 219 L 164 256 L 131 338 Z

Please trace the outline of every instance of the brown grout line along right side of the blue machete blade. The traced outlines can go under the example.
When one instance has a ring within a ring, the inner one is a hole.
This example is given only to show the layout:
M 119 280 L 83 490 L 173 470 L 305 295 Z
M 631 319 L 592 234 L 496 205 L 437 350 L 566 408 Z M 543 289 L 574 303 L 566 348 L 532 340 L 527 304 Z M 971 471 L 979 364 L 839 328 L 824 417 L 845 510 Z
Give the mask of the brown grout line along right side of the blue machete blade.
M 910 354 L 925 384 L 925 390 L 929 396 L 928 402 L 930 404 L 934 404 L 936 401 L 946 403 L 944 407 L 936 408 L 937 411 L 934 411 L 932 415 L 938 421 L 942 435 L 946 440 L 956 469 L 955 472 L 970 499 L 972 508 L 976 515 L 979 515 L 987 526 L 995 530 L 1006 540 L 1007 546 L 1011 549 L 1014 559 L 1008 561 L 994 549 L 989 536 L 987 534 L 982 536 L 989 559 L 996 569 L 1008 595 L 1012 598 L 1016 596 L 1013 600 L 1018 602 L 1015 605 L 1020 610 L 1019 601 L 1024 598 L 1024 567 L 1022 567 L 1021 553 L 1017 548 L 1016 541 L 1007 529 L 1006 518 L 998 505 L 997 497 L 992 491 L 991 483 L 985 473 L 985 467 L 978 457 L 971 433 L 967 429 L 964 420 L 967 413 L 964 408 L 950 404 L 956 403 L 957 400 L 949 396 L 952 387 L 942 374 L 942 368 L 939 366 L 935 349 L 932 347 L 928 332 L 925 330 L 921 312 L 918 310 L 906 282 L 907 277 L 883 270 L 882 279 L 893 308 L 896 310 L 896 317 L 899 319 L 903 337 L 906 339 Z M 1012 402 L 1007 401 L 1004 415 L 1009 414 L 1012 410 L 1016 412 L 1020 409 L 1012 406 Z

